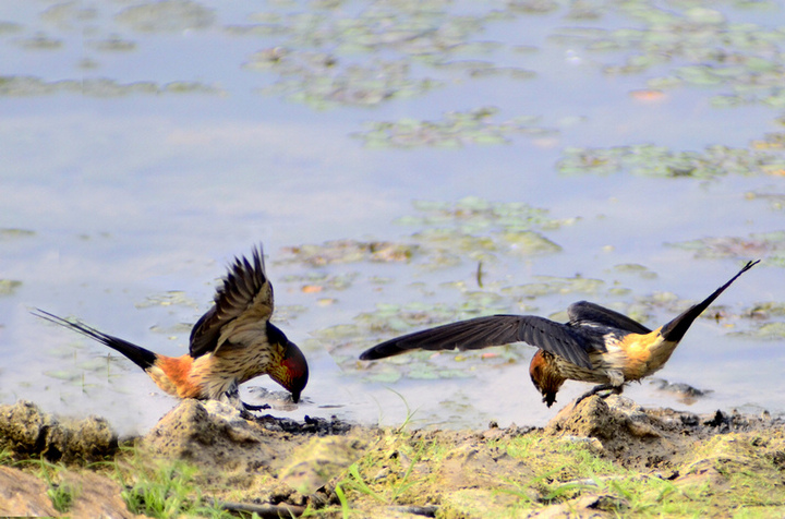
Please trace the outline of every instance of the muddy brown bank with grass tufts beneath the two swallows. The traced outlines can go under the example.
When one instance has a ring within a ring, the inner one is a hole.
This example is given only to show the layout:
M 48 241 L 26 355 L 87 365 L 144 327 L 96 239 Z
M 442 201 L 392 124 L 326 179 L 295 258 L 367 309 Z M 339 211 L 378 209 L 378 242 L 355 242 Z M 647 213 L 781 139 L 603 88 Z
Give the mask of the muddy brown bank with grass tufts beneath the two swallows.
M 100 419 L 61 423 L 29 402 L 0 417 L 0 515 L 785 514 L 781 420 L 616 396 L 570 405 L 544 429 L 483 432 L 299 423 L 195 400 L 120 440 Z

